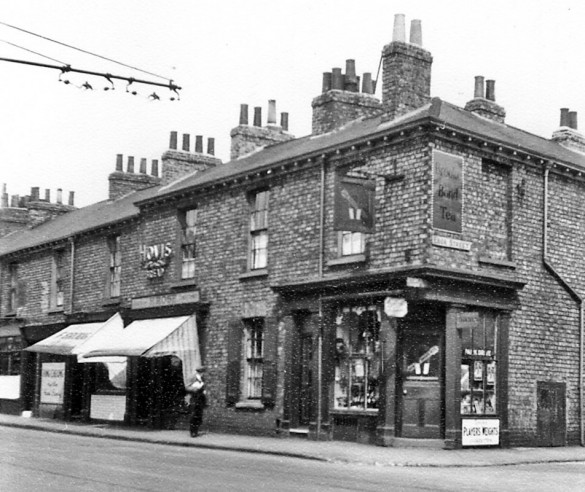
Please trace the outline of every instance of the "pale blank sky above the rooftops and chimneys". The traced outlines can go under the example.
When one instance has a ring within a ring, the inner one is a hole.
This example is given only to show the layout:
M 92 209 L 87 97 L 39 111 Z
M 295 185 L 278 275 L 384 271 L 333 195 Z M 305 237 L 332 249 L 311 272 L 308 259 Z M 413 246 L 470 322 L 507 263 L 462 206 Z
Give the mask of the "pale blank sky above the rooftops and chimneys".
M 585 118 L 582 0 L 3 0 L 0 58 L 182 89 L 174 101 L 168 89 L 139 84 L 132 95 L 123 81 L 105 91 L 103 77 L 65 74 L 64 84 L 59 70 L 0 61 L 0 184 L 10 195 L 50 189 L 52 201 L 57 188 L 74 191 L 77 206 L 105 200 L 116 154 L 150 163 L 177 131 L 215 138 L 225 162 L 240 104 L 250 121 L 262 106 L 265 124 L 269 99 L 289 113 L 293 135 L 307 135 L 322 73 L 355 59 L 358 74 L 375 77 L 397 13 L 407 31 L 422 21 L 431 96 L 464 106 L 483 75 L 496 81 L 510 125 L 550 138 L 560 108 Z M 148 98 L 153 91 L 160 100 Z

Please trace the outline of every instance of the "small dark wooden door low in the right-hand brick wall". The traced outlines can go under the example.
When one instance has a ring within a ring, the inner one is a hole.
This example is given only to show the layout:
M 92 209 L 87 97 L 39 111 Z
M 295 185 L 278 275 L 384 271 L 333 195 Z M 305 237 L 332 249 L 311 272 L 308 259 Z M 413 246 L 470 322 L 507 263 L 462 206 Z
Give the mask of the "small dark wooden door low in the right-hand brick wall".
M 537 382 L 536 430 L 539 446 L 565 446 L 565 383 Z

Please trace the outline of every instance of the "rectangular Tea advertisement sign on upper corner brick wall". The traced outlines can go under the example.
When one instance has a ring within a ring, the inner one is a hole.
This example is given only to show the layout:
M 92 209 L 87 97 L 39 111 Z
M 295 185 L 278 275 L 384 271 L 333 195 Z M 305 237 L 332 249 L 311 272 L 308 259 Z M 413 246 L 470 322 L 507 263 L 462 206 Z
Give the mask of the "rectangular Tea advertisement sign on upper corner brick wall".
M 433 150 L 433 227 L 461 232 L 463 157 Z

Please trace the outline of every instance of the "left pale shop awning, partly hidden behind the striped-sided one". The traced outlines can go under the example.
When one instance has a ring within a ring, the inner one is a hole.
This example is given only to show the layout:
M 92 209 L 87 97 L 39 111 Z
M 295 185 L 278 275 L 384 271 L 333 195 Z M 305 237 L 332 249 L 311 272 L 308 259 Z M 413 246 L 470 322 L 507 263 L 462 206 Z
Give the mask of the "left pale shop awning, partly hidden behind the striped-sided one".
M 69 325 L 67 328 L 31 345 L 25 350 L 45 354 L 75 355 L 78 347 L 100 331 L 112 329 L 113 327 L 123 327 L 122 318 L 119 314 L 115 314 L 106 322 Z

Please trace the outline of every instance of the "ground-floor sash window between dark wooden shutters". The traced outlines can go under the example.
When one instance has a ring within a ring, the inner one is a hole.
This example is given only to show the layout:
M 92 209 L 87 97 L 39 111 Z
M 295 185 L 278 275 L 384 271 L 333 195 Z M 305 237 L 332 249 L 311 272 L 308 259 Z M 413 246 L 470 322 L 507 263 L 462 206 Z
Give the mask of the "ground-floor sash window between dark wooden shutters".
M 244 395 L 248 400 L 262 397 L 262 374 L 264 369 L 264 319 L 246 320 L 244 344 Z

